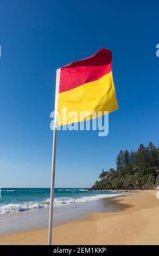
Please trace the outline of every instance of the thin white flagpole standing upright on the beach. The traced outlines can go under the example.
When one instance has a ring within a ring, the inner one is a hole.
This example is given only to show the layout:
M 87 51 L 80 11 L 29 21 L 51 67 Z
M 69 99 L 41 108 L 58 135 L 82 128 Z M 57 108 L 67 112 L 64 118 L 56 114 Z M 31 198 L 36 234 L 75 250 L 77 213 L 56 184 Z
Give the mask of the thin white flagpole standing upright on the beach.
M 52 156 L 52 179 L 51 179 L 51 190 L 50 190 L 48 245 L 52 245 L 52 236 L 53 236 L 53 211 L 54 211 L 55 162 L 56 162 L 56 134 L 57 134 L 57 126 L 58 126 L 59 84 L 60 84 L 60 69 L 57 69 L 57 71 L 56 71 L 54 127 L 53 127 L 54 135 L 53 135 L 53 156 Z

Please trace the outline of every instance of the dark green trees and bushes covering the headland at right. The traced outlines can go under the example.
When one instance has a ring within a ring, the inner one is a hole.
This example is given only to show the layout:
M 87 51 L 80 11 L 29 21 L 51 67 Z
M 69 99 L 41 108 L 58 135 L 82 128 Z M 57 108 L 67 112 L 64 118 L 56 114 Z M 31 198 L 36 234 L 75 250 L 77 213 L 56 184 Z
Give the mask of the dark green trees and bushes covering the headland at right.
M 116 169 L 104 169 L 91 190 L 152 190 L 159 185 L 159 147 L 150 142 L 137 151 L 120 150 Z

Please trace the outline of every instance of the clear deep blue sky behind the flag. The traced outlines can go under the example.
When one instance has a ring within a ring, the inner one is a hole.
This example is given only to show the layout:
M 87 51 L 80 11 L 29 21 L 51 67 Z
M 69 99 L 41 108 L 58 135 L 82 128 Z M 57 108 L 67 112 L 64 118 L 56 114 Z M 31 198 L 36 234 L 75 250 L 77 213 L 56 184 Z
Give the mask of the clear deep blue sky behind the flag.
M 56 187 L 90 187 L 120 149 L 158 144 L 157 1 L 1 0 L 0 186 L 49 187 L 56 69 L 113 53 L 109 136 L 58 131 Z

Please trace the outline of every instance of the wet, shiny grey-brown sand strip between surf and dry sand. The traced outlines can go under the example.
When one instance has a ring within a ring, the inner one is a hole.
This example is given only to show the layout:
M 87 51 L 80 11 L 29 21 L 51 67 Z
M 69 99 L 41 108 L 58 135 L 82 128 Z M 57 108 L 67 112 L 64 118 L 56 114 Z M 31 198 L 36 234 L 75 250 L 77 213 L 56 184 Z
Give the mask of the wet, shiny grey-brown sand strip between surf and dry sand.
M 115 212 L 122 210 L 123 206 L 111 199 L 123 195 L 126 195 L 126 193 L 116 193 L 113 196 L 106 194 L 104 198 L 101 197 L 96 200 L 55 206 L 53 225 L 56 227 L 71 221 L 81 220 L 92 212 Z M 0 215 L 0 222 L 0 237 L 14 233 L 45 229 L 48 227 L 49 222 L 49 207 L 2 214 Z

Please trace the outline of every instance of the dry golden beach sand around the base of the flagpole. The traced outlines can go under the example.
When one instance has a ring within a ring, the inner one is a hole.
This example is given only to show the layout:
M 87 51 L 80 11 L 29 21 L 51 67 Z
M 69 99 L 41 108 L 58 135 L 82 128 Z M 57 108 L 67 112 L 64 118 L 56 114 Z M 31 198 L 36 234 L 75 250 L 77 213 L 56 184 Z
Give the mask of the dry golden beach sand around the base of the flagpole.
M 127 207 L 120 212 L 94 212 L 87 218 L 55 227 L 54 245 L 159 245 L 157 191 L 117 197 Z M 47 245 L 48 230 L 0 237 L 0 245 Z

